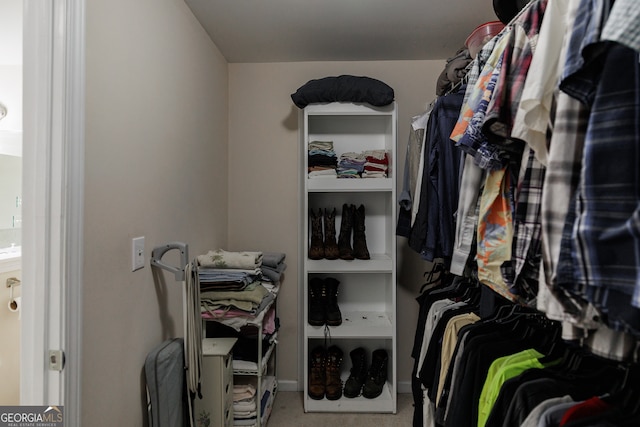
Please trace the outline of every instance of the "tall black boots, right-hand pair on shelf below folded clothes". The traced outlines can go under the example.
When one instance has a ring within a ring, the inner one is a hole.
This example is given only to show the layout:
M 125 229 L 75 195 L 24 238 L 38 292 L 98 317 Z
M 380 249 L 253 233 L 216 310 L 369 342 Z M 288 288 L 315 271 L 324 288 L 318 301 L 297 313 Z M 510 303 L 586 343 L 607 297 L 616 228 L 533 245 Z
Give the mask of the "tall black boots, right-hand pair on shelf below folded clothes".
M 340 259 L 370 259 L 364 226 L 364 205 L 342 205 L 342 220 L 338 236 L 338 256 Z M 353 249 L 351 235 L 353 233 Z

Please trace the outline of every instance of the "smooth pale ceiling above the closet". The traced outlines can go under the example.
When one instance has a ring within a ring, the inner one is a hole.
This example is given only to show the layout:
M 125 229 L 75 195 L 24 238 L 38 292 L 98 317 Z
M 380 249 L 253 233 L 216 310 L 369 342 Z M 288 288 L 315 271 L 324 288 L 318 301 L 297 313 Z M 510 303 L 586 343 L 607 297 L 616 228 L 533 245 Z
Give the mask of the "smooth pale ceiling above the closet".
M 185 0 L 228 62 L 443 59 L 492 0 Z

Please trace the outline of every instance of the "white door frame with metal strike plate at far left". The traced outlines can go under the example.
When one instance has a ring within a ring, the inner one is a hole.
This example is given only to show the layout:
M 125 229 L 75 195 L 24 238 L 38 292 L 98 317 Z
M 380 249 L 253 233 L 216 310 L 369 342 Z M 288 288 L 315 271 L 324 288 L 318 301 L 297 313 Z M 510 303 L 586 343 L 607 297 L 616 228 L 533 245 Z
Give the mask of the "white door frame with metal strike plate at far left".
M 81 419 L 84 13 L 85 0 L 24 1 L 20 403 L 64 405 L 66 426 Z

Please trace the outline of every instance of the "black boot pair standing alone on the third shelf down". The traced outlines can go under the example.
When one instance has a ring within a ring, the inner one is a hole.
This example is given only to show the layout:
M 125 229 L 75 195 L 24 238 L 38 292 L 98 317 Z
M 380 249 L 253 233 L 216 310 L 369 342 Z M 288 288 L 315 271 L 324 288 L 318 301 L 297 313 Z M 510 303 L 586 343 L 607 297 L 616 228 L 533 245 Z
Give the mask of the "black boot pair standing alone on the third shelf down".
M 309 279 L 309 300 L 307 315 L 312 326 L 340 326 L 342 313 L 338 307 L 338 285 L 333 277 Z

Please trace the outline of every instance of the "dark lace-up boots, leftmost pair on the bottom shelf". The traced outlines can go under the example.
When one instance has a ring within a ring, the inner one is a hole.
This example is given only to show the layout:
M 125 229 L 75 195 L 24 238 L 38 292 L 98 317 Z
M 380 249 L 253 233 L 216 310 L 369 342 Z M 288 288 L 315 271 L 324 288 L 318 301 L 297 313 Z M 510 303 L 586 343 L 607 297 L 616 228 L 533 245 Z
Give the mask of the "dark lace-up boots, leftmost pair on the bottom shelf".
M 315 400 L 327 398 L 338 400 L 342 397 L 340 365 L 342 350 L 332 345 L 327 350 L 318 346 L 309 355 L 309 397 Z

